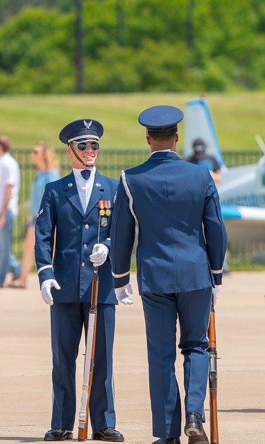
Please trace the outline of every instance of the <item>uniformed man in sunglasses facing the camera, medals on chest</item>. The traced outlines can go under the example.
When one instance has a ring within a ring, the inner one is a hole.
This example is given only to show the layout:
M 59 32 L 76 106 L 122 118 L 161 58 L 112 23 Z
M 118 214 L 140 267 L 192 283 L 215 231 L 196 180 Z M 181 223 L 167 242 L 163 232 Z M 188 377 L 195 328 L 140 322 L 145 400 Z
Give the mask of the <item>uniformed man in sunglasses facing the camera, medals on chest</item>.
M 60 132 L 73 171 L 45 187 L 35 228 L 35 259 L 42 298 L 51 305 L 53 411 L 44 441 L 73 437 L 76 358 L 99 266 L 94 379 L 89 402 L 92 439 L 123 441 L 114 429 L 112 349 L 115 297 L 110 267 L 110 224 L 117 180 L 94 166 L 103 126 L 80 119 Z M 55 244 L 55 247 L 54 247 Z

